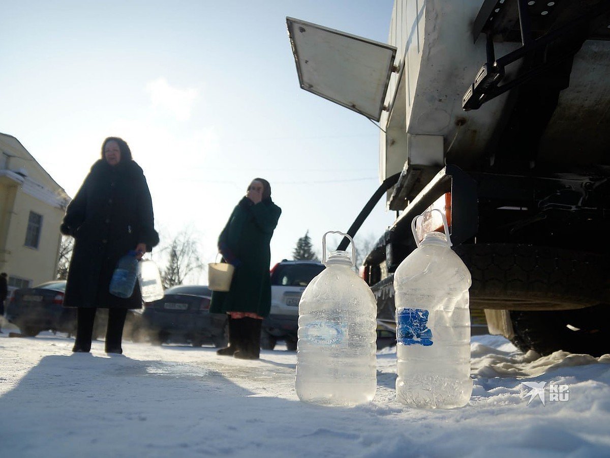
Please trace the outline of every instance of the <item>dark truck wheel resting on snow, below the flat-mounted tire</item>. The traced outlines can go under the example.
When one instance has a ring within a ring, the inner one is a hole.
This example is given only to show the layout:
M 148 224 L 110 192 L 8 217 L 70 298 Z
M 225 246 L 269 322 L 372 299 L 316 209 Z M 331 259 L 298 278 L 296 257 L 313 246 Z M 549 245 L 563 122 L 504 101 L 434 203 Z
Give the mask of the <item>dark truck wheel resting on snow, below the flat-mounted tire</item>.
M 512 343 L 542 356 L 562 350 L 600 357 L 610 353 L 610 304 L 578 310 L 511 311 Z

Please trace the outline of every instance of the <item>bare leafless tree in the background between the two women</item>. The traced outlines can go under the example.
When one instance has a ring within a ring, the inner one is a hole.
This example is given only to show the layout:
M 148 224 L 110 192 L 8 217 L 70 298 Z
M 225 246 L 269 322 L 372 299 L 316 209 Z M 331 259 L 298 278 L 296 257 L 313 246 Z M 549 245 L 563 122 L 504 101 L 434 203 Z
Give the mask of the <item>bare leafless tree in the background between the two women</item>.
M 162 270 L 163 287 L 182 285 L 185 277 L 196 275 L 204 268 L 199 255 L 198 238 L 191 230 L 180 231 L 161 249 L 168 256 L 167 267 Z

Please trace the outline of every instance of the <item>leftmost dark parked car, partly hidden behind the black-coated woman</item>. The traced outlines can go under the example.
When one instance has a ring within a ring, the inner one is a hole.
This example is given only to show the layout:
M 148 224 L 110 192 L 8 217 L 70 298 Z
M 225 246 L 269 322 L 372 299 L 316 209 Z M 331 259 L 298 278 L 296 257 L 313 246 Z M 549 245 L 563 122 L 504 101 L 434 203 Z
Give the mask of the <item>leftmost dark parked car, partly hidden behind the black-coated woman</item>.
M 65 280 L 53 280 L 32 288 L 16 289 L 10 297 L 4 316 L 25 336 L 37 336 L 48 330 L 76 334 L 76 308 L 63 307 L 65 290 Z M 106 334 L 107 320 L 107 310 L 99 309 L 93 328 L 94 338 L 102 338 Z M 140 340 L 140 320 L 141 314 L 138 311 L 129 310 L 123 330 L 124 338 Z

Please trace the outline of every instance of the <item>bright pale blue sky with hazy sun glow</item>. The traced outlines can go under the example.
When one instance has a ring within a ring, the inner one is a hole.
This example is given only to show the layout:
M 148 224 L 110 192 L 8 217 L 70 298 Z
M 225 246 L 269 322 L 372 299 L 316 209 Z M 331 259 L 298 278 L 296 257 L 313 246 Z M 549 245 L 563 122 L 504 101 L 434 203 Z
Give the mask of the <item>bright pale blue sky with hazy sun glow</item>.
M 0 132 L 20 140 L 71 197 L 104 138 L 123 137 L 148 180 L 161 244 L 187 229 L 205 262 L 260 176 L 282 208 L 271 264 L 291 258 L 308 230 L 321 256 L 323 233 L 347 231 L 379 185 L 379 129 L 300 89 L 285 18 L 387 42 L 392 7 L 393 0 L 6 1 Z M 392 220 L 382 200 L 356 240 L 376 240 Z

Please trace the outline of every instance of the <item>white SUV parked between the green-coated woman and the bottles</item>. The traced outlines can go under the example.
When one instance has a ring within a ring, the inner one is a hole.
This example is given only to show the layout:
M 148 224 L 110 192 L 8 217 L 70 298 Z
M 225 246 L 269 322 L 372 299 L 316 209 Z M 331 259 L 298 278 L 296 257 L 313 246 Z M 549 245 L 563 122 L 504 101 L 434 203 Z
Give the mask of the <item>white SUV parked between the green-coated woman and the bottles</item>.
M 271 313 L 264 319 L 260 347 L 273 350 L 278 340 L 296 351 L 299 300 L 309 282 L 325 269 L 320 261 L 283 260 L 271 269 Z

